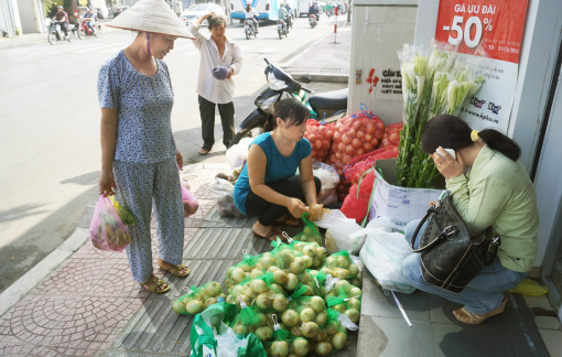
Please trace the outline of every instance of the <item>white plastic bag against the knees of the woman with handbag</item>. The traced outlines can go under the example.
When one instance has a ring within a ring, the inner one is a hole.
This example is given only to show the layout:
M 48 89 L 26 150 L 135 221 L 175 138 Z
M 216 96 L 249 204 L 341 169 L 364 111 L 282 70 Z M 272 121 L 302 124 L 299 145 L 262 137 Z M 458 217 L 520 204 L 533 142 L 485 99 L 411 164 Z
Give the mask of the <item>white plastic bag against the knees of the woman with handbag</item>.
M 350 236 L 367 235 L 359 257 L 382 289 L 412 293 L 415 288 L 402 275 L 402 261 L 413 252 L 404 235 L 392 230 L 391 227 L 383 227 L 381 221 L 375 220 Z

